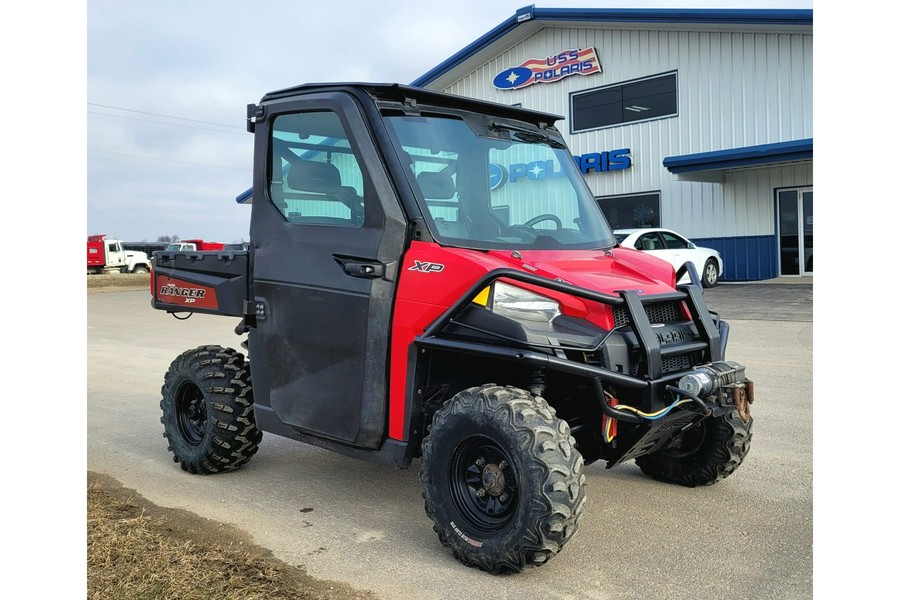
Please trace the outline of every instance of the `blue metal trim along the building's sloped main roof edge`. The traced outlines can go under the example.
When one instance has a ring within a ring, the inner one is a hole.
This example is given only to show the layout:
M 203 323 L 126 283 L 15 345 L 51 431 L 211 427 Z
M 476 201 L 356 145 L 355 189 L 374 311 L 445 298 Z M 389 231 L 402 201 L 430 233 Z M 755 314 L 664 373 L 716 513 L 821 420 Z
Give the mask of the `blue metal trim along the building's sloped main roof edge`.
M 536 21 L 585 21 L 596 23 L 732 23 L 758 25 L 813 24 L 813 11 L 801 9 L 631 9 L 631 8 L 535 8 L 526 6 L 497 27 L 436 66 L 410 85 L 424 87 L 478 51 L 499 40 L 520 24 Z

